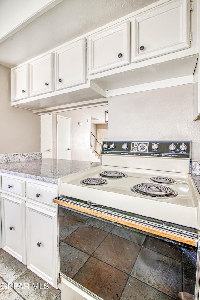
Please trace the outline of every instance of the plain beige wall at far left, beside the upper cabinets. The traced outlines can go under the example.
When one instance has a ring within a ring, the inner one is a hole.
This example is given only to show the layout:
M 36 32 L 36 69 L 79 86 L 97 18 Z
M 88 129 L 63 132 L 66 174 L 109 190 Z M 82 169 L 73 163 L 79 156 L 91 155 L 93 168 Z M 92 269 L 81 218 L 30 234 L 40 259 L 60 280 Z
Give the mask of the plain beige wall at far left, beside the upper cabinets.
M 11 107 L 10 69 L 0 65 L 0 154 L 40 151 L 40 116 Z

